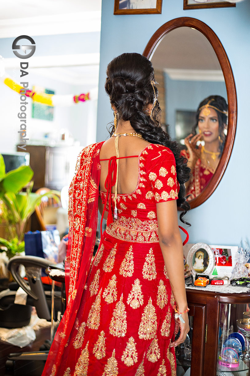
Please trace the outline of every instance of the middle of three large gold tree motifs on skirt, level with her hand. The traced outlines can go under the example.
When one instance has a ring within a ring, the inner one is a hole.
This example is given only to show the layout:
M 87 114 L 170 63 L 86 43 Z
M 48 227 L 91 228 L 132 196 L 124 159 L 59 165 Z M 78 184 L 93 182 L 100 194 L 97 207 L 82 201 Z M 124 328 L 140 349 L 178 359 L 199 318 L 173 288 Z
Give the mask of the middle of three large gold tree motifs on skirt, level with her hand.
M 116 337 L 124 337 L 127 332 L 127 313 L 125 304 L 122 302 L 123 294 L 119 302 L 116 303 L 116 308 L 113 312 L 113 317 L 110 321 L 109 332 Z

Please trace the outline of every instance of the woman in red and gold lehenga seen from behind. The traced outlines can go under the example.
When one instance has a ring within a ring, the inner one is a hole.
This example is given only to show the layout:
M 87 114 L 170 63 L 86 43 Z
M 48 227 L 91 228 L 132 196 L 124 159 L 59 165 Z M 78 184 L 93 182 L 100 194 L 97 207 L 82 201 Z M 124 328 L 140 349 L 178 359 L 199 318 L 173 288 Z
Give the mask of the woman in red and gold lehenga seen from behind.
M 68 305 L 42 376 L 173 376 L 175 346 L 189 330 L 177 220 L 178 205 L 186 223 L 189 168 L 160 127 L 148 59 L 113 59 L 105 90 L 114 127 L 110 139 L 78 156 L 69 188 Z M 107 228 L 91 264 L 98 207 Z

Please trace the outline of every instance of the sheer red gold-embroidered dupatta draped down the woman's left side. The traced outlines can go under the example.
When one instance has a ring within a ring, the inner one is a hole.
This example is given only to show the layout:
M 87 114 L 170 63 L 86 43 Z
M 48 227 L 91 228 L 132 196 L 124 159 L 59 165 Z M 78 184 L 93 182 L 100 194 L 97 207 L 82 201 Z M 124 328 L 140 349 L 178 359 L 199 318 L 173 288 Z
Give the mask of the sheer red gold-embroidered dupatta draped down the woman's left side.
M 57 373 L 57 367 L 62 361 L 86 284 L 96 238 L 101 145 L 93 144 L 81 151 L 77 158 L 77 172 L 69 187 L 69 242 L 65 259 L 68 304 L 42 376 L 62 376 Z

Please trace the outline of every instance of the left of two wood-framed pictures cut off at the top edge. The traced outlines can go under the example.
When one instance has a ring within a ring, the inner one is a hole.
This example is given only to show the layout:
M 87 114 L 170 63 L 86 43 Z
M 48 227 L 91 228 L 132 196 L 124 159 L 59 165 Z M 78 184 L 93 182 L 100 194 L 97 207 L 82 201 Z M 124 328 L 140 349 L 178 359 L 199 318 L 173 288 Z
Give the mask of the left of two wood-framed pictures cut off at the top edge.
M 114 0 L 114 14 L 161 14 L 162 0 Z

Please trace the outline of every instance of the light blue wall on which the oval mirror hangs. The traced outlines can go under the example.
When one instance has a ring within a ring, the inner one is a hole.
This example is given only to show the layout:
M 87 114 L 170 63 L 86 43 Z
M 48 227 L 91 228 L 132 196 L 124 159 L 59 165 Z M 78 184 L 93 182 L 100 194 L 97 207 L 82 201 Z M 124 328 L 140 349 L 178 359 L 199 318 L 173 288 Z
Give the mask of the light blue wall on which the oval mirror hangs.
M 238 95 L 238 125 L 235 144 L 226 172 L 212 196 L 186 215 L 190 243 L 238 245 L 250 238 L 249 205 L 249 61 L 250 2 L 236 8 L 183 10 L 183 0 L 163 0 L 160 15 L 113 15 L 114 0 L 102 2 L 101 58 L 98 99 L 97 141 L 108 136 L 112 120 L 104 82 L 107 64 L 123 52 L 143 53 L 151 36 L 164 23 L 177 17 L 194 17 L 211 27 L 227 52 Z

